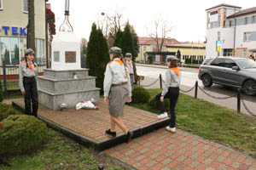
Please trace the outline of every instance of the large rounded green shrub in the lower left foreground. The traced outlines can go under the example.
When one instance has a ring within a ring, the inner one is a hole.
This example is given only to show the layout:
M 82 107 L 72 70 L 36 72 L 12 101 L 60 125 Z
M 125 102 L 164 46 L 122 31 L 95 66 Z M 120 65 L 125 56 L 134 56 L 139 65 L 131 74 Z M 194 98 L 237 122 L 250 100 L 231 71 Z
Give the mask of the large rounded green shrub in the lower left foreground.
M 12 115 L 1 123 L 3 129 L 0 129 L 0 156 L 37 147 L 47 137 L 45 123 L 34 116 Z

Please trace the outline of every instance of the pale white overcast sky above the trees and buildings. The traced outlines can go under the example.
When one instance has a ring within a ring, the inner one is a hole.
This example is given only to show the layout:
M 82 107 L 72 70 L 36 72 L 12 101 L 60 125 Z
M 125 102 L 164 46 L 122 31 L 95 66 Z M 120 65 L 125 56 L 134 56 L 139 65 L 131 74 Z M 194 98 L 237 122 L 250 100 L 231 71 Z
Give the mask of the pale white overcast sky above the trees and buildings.
M 65 0 L 49 0 L 55 13 L 56 31 L 64 21 Z M 123 14 L 123 23 L 129 20 L 139 37 L 148 37 L 147 27 L 152 27 L 156 17 L 173 26 L 170 37 L 179 42 L 203 42 L 206 36 L 206 9 L 220 3 L 241 7 L 256 6 L 255 0 L 70 0 L 70 23 L 77 37 L 90 37 L 93 22 L 101 13 Z M 148 28 L 150 29 L 150 28 Z

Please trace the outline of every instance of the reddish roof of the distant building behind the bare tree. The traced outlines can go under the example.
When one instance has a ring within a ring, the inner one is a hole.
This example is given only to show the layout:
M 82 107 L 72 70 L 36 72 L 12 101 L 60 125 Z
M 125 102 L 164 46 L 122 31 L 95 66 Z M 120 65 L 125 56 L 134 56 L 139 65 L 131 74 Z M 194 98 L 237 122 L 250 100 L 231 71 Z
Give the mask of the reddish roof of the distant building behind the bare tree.
M 159 38 L 159 42 L 161 41 L 162 38 Z M 171 44 L 176 44 L 179 43 L 175 38 L 166 38 L 164 45 L 171 45 Z M 156 45 L 156 42 L 154 41 L 153 37 L 139 37 L 138 38 L 138 44 L 139 45 Z

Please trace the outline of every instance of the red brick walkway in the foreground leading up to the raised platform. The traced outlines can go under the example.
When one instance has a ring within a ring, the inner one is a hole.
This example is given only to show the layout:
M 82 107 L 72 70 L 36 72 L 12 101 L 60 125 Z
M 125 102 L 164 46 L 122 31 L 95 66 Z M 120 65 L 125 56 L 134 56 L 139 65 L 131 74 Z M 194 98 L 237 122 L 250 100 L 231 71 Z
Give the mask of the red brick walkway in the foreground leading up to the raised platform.
M 161 128 L 103 153 L 137 169 L 256 170 L 256 159 L 177 129 Z

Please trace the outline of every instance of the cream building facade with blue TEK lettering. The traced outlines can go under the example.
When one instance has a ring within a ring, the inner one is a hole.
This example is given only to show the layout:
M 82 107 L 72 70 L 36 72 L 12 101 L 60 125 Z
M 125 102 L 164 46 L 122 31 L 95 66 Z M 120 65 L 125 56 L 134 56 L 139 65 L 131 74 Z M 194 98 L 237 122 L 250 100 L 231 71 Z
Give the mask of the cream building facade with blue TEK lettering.
M 0 65 L 20 64 L 26 50 L 27 0 L 0 0 Z M 45 0 L 35 1 L 35 56 L 45 63 Z

